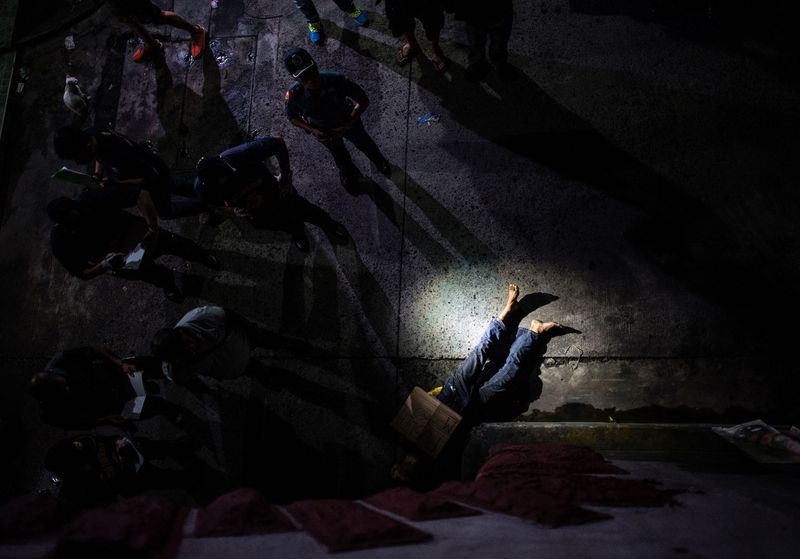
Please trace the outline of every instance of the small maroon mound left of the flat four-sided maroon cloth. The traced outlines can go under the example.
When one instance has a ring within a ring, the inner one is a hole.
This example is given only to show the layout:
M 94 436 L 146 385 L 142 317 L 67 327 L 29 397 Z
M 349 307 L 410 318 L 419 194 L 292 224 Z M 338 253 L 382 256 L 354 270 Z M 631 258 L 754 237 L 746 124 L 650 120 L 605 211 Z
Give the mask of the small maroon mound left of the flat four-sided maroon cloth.
M 294 524 L 255 489 L 237 489 L 197 511 L 196 537 L 291 532 Z

